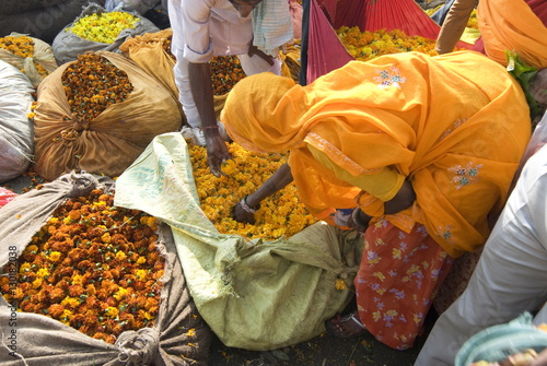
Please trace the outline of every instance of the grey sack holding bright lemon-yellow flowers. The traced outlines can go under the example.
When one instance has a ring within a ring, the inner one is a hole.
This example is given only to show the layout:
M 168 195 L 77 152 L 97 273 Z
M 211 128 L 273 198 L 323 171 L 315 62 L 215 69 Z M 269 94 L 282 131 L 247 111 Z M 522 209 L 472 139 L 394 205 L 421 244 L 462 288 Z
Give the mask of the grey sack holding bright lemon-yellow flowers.
M 119 52 L 128 38 L 160 31 L 148 19 L 136 12 L 106 11 L 90 3 L 81 14 L 55 37 L 51 45 L 59 64 L 73 61 L 85 51 Z

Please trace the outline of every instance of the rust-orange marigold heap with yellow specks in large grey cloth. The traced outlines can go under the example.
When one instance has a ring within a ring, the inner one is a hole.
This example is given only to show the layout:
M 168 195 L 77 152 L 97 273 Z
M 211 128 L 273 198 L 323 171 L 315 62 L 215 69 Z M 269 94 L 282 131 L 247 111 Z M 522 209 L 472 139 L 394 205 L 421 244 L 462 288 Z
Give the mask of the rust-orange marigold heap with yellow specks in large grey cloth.
M 16 287 L 0 276 L 7 302 L 107 343 L 151 327 L 164 272 L 158 223 L 113 201 L 96 189 L 60 205 L 23 251 Z

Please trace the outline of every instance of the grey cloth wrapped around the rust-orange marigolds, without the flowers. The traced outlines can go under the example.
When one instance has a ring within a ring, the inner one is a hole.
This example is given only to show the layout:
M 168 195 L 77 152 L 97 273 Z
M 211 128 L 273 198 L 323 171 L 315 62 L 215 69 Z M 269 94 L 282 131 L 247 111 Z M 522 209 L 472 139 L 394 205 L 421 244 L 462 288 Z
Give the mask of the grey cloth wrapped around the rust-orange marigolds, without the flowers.
M 95 188 L 108 191 L 114 181 L 89 174 L 68 174 L 4 205 L 0 210 L 0 265 L 16 261 L 57 206 Z M 0 365 L 207 365 L 212 333 L 197 315 L 188 294 L 171 229 L 162 225 L 159 235 L 165 273 L 153 328 L 126 331 L 116 344 L 109 344 L 51 318 L 14 312 L 14 307 L 0 297 Z M 190 329 L 195 329 L 195 335 L 188 334 Z

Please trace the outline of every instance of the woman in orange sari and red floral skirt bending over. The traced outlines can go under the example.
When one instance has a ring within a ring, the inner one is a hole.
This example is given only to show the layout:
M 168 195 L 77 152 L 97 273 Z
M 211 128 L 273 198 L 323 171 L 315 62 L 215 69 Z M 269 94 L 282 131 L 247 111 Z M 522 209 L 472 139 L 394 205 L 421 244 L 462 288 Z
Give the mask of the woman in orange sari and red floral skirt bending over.
M 485 243 L 531 135 L 519 84 L 475 52 L 351 61 L 306 86 L 261 73 L 230 92 L 221 119 L 249 150 L 290 152 L 317 217 L 353 209 L 358 311 L 327 328 L 398 350 L 414 344 L 453 258 Z

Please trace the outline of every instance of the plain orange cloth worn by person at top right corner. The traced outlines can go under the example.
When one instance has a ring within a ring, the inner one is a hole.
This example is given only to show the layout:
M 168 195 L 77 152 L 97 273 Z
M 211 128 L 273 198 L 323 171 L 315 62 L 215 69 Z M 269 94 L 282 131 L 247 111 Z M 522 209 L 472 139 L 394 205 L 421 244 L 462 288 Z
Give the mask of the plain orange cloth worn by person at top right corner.
M 526 64 L 547 68 L 547 27 L 524 0 L 480 0 L 477 22 L 485 51 L 507 66 L 505 50 Z

